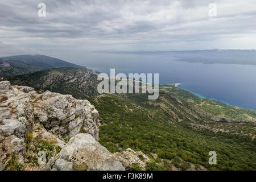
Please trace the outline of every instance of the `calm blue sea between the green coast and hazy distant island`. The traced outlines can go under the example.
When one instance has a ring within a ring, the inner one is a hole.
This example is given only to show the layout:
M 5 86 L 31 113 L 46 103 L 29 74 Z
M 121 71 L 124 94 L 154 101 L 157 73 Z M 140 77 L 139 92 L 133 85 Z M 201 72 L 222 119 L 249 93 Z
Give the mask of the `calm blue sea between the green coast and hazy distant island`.
M 108 74 L 110 68 L 116 74 L 159 73 L 161 84 L 182 83 L 180 88 L 199 97 L 256 110 L 255 65 L 188 63 L 164 55 L 113 53 L 87 53 L 76 64 Z

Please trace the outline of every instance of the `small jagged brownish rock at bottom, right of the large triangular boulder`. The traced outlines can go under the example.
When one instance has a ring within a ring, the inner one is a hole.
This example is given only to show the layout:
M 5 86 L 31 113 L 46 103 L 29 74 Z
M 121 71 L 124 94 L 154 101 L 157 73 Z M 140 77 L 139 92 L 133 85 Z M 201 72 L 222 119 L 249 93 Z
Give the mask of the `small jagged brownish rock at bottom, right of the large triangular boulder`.
M 142 170 L 146 170 L 146 163 L 150 162 L 150 159 L 143 152 L 135 152 L 131 148 L 127 148 L 123 152 L 115 152 L 115 157 L 120 160 L 126 170 L 130 170 L 134 164 L 141 167 Z

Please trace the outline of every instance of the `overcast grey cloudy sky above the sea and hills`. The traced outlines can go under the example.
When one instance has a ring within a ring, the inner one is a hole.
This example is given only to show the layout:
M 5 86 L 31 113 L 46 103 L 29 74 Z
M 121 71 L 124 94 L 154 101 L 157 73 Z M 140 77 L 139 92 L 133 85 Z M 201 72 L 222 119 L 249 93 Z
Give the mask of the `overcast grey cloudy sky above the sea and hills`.
M 0 56 L 212 48 L 256 49 L 255 0 L 0 1 Z

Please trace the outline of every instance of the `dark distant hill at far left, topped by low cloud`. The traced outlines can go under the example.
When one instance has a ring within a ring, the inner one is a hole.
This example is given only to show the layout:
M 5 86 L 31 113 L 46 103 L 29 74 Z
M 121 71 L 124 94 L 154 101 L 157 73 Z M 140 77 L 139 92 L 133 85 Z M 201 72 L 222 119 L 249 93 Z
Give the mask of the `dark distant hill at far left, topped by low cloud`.
M 0 58 L 0 77 L 22 75 L 43 69 L 73 67 L 86 69 L 80 65 L 68 63 L 44 55 L 18 55 Z

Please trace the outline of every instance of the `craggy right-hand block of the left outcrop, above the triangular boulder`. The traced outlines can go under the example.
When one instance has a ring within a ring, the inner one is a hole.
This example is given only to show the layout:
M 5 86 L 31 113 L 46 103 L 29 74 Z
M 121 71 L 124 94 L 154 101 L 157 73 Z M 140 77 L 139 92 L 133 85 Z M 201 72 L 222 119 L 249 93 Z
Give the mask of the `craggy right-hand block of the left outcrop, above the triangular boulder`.
M 98 111 L 89 101 L 47 91 L 36 95 L 33 105 L 35 117 L 47 130 L 73 137 L 83 127 L 98 140 Z

